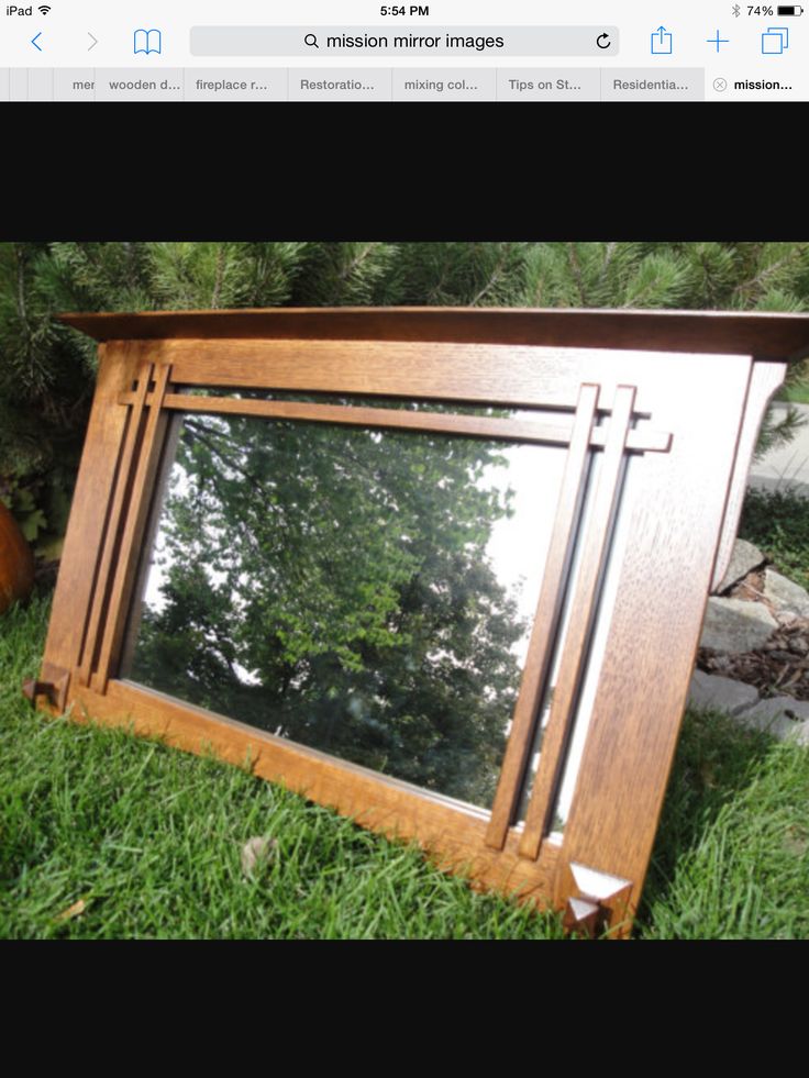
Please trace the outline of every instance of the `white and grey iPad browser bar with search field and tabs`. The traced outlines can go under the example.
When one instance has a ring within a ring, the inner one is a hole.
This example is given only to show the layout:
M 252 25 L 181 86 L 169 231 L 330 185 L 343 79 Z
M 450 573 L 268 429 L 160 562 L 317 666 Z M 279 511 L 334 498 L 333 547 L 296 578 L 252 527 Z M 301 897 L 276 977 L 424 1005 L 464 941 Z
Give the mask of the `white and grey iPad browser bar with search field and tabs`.
M 0 101 L 807 100 L 808 22 L 728 0 L 3 2 Z

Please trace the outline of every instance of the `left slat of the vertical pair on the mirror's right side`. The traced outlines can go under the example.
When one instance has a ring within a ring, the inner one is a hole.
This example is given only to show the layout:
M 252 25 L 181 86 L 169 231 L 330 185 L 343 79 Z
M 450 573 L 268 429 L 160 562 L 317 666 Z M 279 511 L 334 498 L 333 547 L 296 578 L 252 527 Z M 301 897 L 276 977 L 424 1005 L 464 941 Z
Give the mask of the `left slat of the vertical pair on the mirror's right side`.
M 525 658 L 525 668 L 522 674 L 520 694 L 517 699 L 509 742 L 491 808 L 491 818 L 486 831 L 486 844 L 494 849 L 502 849 L 506 842 L 531 748 L 534 719 L 562 612 L 562 599 L 570 564 L 575 523 L 584 497 L 598 390 L 599 387 L 594 385 L 584 385 L 579 389 L 570 446 L 562 477 L 562 488 L 556 505 L 556 516 L 545 562 L 542 588 L 536 604 L 534 626 Z

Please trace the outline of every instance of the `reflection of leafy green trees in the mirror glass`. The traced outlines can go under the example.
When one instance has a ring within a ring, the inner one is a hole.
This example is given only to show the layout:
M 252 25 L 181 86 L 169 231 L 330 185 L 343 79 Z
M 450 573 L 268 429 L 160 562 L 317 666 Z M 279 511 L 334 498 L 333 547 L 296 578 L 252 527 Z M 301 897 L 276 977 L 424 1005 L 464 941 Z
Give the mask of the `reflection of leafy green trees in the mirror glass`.
M 181 422 L 125 675 L 489 807 L 527 631 L 486 554 L 512 512 L 501 447 Z

